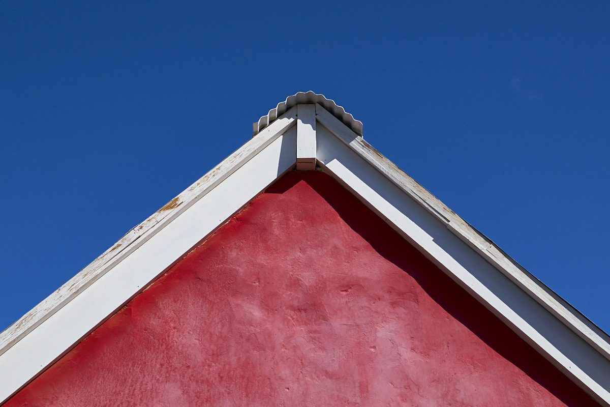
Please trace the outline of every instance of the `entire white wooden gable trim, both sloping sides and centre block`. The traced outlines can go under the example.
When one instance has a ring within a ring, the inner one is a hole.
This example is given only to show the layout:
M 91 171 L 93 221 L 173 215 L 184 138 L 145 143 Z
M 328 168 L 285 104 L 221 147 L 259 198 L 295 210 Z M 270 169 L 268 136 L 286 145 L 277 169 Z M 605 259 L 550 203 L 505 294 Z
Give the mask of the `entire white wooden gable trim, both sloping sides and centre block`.
M 0 334 L 0 403 L 285 171 L 295 165 L 314 169 L 317 163 L 554 366 L 610 406 L 610 345 L 603 331 L 348 128 L 342 108 L 331 114 L 311 104 L 314 97 L 329 104 L 323 96 L 297 95 L 300 99 L 293 99 L 302 104 L 279 118 L 270 112 L 253 139 Z

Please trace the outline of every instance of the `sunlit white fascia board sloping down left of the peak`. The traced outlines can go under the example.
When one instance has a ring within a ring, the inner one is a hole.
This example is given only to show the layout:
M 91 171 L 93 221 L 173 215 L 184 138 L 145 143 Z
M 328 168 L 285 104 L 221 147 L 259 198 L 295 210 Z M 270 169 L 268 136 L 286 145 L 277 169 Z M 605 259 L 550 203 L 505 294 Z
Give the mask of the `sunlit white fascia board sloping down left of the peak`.
M 7 328 L 0 404 L 294 168 L 295 124 L 296 107 Z

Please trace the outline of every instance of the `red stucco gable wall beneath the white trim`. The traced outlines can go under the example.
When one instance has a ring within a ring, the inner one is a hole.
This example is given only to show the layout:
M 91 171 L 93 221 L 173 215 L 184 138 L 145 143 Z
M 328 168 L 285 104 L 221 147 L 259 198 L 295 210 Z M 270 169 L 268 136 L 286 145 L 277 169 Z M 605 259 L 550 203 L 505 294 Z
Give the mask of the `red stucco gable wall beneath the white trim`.
M 320 172 L 289 173 L 7 402 L 593 406 Z

